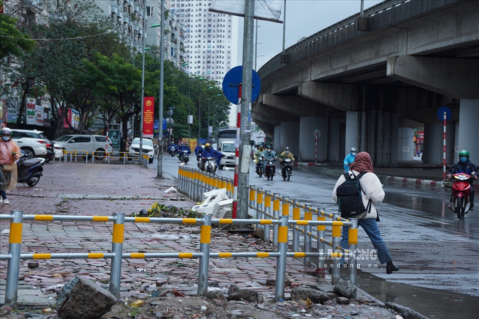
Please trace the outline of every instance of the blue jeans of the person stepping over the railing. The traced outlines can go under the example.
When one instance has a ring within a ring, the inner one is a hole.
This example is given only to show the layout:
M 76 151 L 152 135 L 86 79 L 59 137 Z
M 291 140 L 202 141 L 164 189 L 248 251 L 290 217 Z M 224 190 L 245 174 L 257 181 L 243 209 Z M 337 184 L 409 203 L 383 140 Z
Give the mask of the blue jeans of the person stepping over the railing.
M 365 218 L 358 219 L 358 226 L 361 226 L 369 239 L 373 243 L 374 248 L 378 252 L 379 262 L 384 264 L 388 261 L 392 261 L 391 255 L 389 255 L 388 247 L 386 243 L 381 238 L 381 233 L 379 232 L 378 223 L 374 218 Z M 343 236 L 341 238 L 341 247 L 348 249 L 348 227 L 343 226 Z M 341 264 L 344 263 L 344 258 L 341 259 Z

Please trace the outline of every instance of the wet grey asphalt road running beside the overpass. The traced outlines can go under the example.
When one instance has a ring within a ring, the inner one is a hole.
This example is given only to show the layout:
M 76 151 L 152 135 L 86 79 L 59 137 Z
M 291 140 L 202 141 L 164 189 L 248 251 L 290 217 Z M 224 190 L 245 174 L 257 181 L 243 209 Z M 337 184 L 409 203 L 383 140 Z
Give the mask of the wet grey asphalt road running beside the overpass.
M 163 171 L 177 177 L 178 160 L 169 156 L 163 159 Z M 188 166 L 196 167 L 196 160 L 192 159 Z M 156 168 L 156 160 L 153 167 Z M 337 211 L 331 198 L 336 179 L 294 170 L 289 182 L 279 175 L 268 181 L 254 173 L 252 163 L 250 171 L 251 185 L 326 212 Z M 219 170 L 218 174 L 233 178 L 234 170 Z M 381 218 L 379 229 L 394 263 L 401 269 L 386 275 L 384 265 L 375 267 L 378 261 L 360 261 L 359 286 L 384 302 L 394 300 L 415 306 L 413 309 L 434 301 L 437 307 L 429 313 L 431 318 L 467 318 L 468 314 L 476 317 L 479 313 L 479 196 L 475 198 L 478 210 L 459 220 L 447 207 L 448 190 L 392 186 L 384 186 L 384 190 L 386 197 L 377 205 Z M 358 247 L 373 248 L 364 231 L 360 230 L 358 237 Z M 459 313 L 458 305 L 462 309 Z

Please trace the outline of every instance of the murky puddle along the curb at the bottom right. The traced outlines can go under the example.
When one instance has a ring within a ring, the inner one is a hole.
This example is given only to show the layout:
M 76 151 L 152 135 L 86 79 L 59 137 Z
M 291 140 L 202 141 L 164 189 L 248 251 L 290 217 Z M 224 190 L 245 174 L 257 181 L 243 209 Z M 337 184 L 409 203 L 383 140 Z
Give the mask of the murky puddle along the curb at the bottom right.
M 384 303 L 411 308 L 428 318 L 477 318 L 479 298 L 431 288 L 391 283 L 358 270 L 358 287 Z

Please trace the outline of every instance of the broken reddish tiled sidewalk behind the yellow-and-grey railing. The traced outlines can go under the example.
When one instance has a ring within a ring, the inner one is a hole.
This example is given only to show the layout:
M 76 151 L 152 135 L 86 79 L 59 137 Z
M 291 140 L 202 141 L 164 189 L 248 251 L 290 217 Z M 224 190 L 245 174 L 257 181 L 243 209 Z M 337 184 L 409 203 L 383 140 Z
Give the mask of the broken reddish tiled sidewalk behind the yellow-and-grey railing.
M 132 212 L 148 209 L 158 201 L 165 205 L 190 208 L 196 203 L 178 193 L 165 193 L 176 186 L 173 179 L 157 180 L 156 170 L 138 165 L 48 163 L 44 176 L 36 187 L 23 187 L 8 195 L 10 205 L 5 209 L 23 210 L 24 214 L 60 214 L 110 216 L 113 212 Z M 0 249 L 8 252 L 8 221 L 0 223 Z M 112 223 L 83 221 L 27 221 L 23 224 L 22 253 L 96 253 L 110 252 Z M 126 223 L 125 253 L 137 252 L 198 252 L 199 226 L 177 224 Z M 212 252 L 275 251 L 260 240 L 245 238 L 213 228 Z M 29 268 L 28 263 L 38 263 Z M 197 293 L 197 259 L 124 259 L 122 264 L 121 298 L 141 298 L 150 294 L 167 279 L 162 288 L 175 289 L 185 295 Z M 4 300 L 5 261 L 0 262 L 1 302 Z M 250 287 L 270 298 L 274 287 L 266 280 L 275 279 L 276 260 L 273 258 L 212 258 L 210 286 L 224 288 L 232 283 Z M 25 306 L 52 305 L 54 287 L 68 282 L 76 275 L 108 285 L 110 260 L 49 259 L 25 260 L 20 264 L 19 304 Z M 295 284 L 327 285 L 315 278 L 313 269 L 305 268 L 300 260 L 288 258 L 286 278 Z M 217 284 L 215 284 L 217 283 Z M 35 289 L 33 289 L 33 287 Z M 107 286 L 106 286 L 107 287 Z M 38 289 L 46 289 L 40 293 Z M 286 288 L 286 294 L 288 293 Z M 50 299 L 49 299 L 50 298 Z

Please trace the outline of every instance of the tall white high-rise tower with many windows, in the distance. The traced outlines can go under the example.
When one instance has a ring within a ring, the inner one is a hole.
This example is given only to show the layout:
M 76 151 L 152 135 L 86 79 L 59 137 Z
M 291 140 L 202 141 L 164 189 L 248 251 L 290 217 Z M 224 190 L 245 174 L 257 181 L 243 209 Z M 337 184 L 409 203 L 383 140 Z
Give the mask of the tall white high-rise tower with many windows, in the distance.
M 171 11 L 186 28 L 185 71 L 222 82 L 236 63 L 238 40 L 233 34 L 233 17 L 210 12 L 209 7 L 208 0 L 178 0 Z

